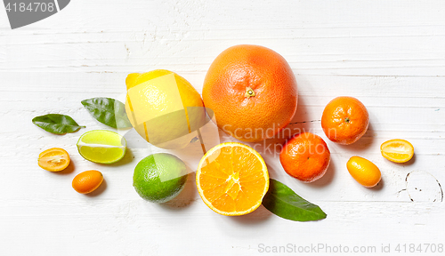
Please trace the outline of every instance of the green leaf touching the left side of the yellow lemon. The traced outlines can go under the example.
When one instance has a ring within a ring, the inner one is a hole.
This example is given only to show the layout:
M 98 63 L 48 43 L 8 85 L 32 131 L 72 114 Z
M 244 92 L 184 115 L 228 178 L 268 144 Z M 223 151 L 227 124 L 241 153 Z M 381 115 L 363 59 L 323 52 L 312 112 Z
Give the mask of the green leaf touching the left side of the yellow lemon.
M 119 100 L 110 98 L 93 98 L 82 100 L 82 105 L 102 124 L 113 128 L 128 128 L 132 124 L 126 117 L 125 105 Z

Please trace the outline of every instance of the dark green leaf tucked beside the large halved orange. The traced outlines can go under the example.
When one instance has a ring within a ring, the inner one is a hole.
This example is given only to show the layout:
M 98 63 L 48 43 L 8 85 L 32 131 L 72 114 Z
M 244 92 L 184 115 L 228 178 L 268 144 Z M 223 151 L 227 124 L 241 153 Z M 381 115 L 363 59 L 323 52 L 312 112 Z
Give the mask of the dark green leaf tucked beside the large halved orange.
M 304 200 L 278 180 L 270 180 L 269 191 L 263 198 L 267 210 L 287 220 L 322 220 L 326 213 L 318 205 Z

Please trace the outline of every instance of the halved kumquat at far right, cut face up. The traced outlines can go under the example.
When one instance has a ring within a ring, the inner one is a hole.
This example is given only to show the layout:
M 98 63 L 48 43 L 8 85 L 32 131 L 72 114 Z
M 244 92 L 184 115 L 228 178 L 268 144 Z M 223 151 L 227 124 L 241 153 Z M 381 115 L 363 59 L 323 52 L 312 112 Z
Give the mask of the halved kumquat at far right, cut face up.
M 384 158 L 395 162 L 405 163 L 414 156 L 414 147 L 407 140 L 388 140 L 380 146 Z

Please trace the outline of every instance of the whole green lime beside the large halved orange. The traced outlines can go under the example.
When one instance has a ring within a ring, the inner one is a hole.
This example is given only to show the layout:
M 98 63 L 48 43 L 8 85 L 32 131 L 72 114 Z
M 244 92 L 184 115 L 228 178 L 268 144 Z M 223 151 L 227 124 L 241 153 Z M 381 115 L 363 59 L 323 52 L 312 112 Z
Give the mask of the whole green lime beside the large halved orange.
M 136 165 L 133 186 L 143 199 L 165 203 L 179 195 L 187 176 L 187 168 L 181 159 L 158 153 L 143 158 Z

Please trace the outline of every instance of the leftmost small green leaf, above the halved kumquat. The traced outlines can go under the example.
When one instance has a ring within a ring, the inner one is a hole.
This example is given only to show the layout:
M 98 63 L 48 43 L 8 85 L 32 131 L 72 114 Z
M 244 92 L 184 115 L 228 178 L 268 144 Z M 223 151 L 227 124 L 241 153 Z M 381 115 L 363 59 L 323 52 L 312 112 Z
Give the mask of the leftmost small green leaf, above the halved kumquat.
M 85 128 L 85 126 L 77 124 L 73 118 L 61 114 L 36 116 L 32 119 L 32 123 L 44 129 L 44 131 L 54 134 L 77 132 L 80 128 Z

